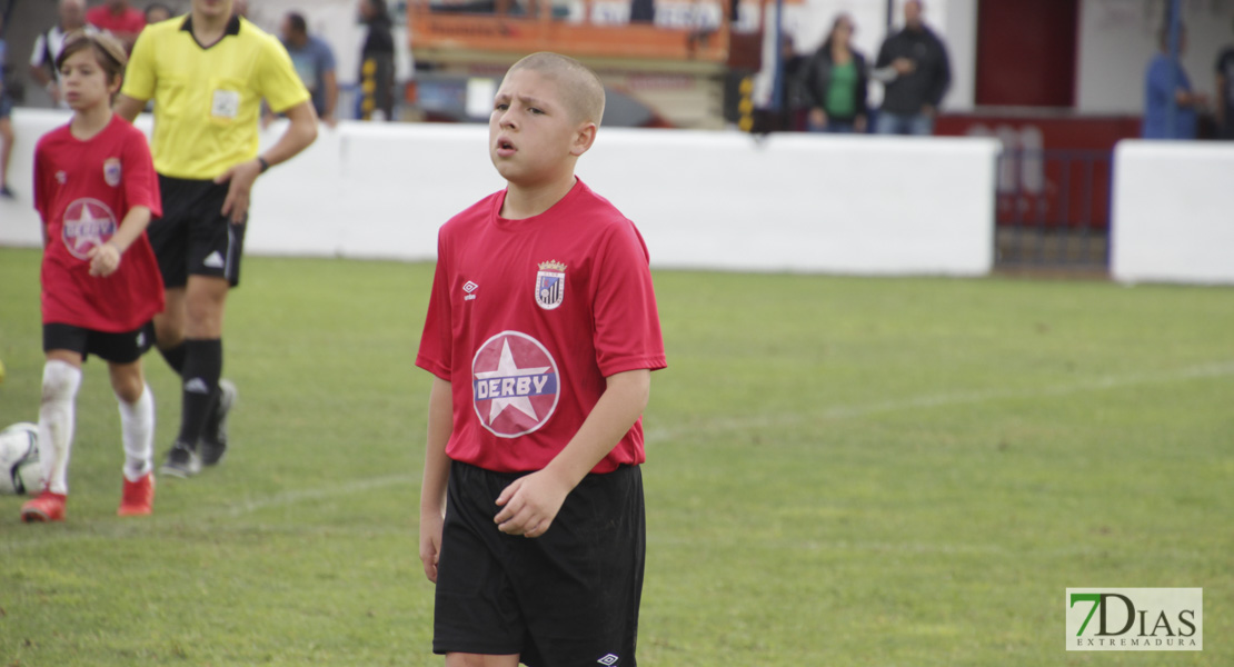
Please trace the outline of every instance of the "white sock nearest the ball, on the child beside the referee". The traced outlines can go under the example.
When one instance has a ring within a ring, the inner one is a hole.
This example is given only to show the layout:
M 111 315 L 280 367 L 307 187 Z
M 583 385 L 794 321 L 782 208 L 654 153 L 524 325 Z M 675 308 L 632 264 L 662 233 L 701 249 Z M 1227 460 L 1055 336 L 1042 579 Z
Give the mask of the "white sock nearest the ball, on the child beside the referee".
M 74 401 L 80 386 L 81 369 L 57 359 L 43 366 L 43 402 L 38 407 L 38 461 L 52 493 L 69 492 Z

